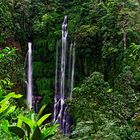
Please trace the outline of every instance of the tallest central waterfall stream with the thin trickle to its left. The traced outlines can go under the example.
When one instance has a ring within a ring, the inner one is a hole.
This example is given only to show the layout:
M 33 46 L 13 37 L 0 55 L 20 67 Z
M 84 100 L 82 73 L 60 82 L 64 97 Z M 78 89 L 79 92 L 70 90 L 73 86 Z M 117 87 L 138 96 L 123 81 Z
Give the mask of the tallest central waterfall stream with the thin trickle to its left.
M 64 17 L 64 21 L 62 24 L 62 50 L 61 50 L 61 67 L 60 67 L 60 93 L 55 93 L 55 109 L 54 109 L 54 120 L 56 123 L 60 123 L 61 126 L 63 124 L 63 106 L 64 106 L 64 99 L 65 99 L 65 67 L 66 67 L 66 46 L 67 46 L 67 16 Z M 58 48 L 57 48 L 58 49 Z M 58 50 L 57 50 L 58 51 Z M 58 59 L 58 52 L 56 51 L 56 79 L 55 79 L 55 91 L 57 92 L 57 59 Z M 57 103 L 58 102 L 58 103 Z M 60 102 L 60 103 L 59 103 Z M 59 105 L 60 104 L 60 105 Z M 60 109 L 59 109 L 60 108 Z M 56 118 L 56 112 L 57 118 Z

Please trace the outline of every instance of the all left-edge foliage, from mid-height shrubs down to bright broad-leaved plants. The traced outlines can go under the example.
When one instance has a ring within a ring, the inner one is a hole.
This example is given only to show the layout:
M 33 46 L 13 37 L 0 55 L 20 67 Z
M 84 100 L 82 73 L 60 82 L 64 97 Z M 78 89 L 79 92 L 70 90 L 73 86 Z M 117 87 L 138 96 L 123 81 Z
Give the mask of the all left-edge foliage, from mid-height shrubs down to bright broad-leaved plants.
M 1 50 L 0 56 L 2 70 L 0 78 L 0 139 L 44 140 L 51 138 L 56 133 L 58 125 L 43 124 L 51 115 L 42 116 L 46 105 L 41 108 L 38 114 L 35 114 L 25 108 L 20 108 L 17 104 L 20 102 L 13 100 L 13 98 L 22 97 L 21 94 L 11 92 L 14 85 L 10 79 L 14 74 L 12 67 L 15 68 L 15 61 L 12 60 L 16 60 L 15 50 L 7 47 Z

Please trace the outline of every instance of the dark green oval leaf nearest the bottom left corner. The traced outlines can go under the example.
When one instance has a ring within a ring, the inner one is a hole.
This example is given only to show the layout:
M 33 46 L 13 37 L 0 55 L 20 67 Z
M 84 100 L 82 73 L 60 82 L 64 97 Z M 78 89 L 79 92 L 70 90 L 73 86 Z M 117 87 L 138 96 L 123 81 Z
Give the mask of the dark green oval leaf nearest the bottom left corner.
M 17 135 L 20 139 L 23 139 L 25 136 L 24 130 L 17 126 L 9 126 L 9 131 Z

